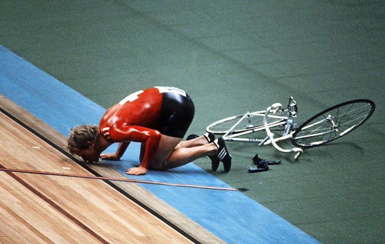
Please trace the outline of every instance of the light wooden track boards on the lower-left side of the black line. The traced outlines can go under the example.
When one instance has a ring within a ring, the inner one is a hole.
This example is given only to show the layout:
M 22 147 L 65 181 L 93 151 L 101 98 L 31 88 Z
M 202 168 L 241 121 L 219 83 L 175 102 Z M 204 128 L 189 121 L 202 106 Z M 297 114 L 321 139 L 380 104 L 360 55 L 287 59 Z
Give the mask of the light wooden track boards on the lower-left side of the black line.
M 0 144 L 1 167 L 90 174 L 3 113 Z M 2 172 L 0 195 L 7 241 L 192 243 L 103 181 Z

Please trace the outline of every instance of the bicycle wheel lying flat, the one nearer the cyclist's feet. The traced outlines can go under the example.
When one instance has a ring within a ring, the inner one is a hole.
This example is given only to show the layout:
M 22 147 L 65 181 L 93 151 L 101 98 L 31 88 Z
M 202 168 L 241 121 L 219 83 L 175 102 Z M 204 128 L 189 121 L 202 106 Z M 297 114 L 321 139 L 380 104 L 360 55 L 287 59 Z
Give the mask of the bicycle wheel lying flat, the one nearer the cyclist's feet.
M 247 115 L 247 117 L 240 122 L 236 127 L 233 128 L 233 130 L 230 132 L 230 134 L 236 134 L 240 132 L 244 132 L 247 130 L 253 130 L 256 128 L 264 127 L 264 121 L 263 121 L 263 116 L 261 115 L 256 115 L 260 113 L 265 113 L 265 111 L 258 111 L 258 112 L 253 112 Z M 206 127 L 207 132 L 212 132 L 217 135 L 225 134 L 227 133 L 231 127 L 238 122 L 243 115 L 236 115 L 236 116 L 231 116 L 222 120 L 219 120 L 217 122 L 211 123 L 209 126 Z M 277 119 L 277 116 L 268 116 L 268 123 L 277 123 L 283 121 L 283 119 Z

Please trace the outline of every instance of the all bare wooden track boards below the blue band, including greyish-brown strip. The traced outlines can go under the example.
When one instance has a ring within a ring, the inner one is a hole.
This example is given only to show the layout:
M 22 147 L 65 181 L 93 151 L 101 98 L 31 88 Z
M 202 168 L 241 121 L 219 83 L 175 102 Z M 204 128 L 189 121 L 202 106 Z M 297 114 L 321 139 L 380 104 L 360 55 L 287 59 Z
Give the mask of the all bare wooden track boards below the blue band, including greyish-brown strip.
M 1 95 L 0 108 L 1 168 L 124 178 L 74 162 L 63 135 Z M 135 183 L 0 171 L 0 243 L 224 242 Z

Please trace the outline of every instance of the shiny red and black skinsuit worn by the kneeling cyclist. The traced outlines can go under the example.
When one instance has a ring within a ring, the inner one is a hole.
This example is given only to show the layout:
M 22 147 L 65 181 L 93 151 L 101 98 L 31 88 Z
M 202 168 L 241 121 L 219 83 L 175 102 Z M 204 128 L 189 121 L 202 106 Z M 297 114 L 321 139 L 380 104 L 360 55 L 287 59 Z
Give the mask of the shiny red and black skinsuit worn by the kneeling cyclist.
M 182 138 L 193 117 L 194 104 L 185 91 L 156 86 L 135 92 L 108 109 L 99 132 L 110 143 L 145 143 L 141 166 L 149 168 L 161 135 Z

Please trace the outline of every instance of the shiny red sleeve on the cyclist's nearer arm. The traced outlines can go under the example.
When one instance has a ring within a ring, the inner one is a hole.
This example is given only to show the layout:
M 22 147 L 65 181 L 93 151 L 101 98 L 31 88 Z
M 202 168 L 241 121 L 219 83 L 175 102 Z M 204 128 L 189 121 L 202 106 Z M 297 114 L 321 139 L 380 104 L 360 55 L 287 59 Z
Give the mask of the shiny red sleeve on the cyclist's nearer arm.
M 154 129 L 117 122 L 111 126 L 110 136 L 115 142 L 144 142 L 146 151 L 140 165 L 149 168 L 149 164 L 154 159 L 158 149 L 161 134 Z

